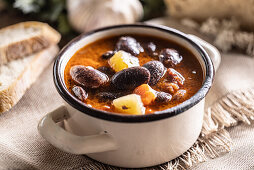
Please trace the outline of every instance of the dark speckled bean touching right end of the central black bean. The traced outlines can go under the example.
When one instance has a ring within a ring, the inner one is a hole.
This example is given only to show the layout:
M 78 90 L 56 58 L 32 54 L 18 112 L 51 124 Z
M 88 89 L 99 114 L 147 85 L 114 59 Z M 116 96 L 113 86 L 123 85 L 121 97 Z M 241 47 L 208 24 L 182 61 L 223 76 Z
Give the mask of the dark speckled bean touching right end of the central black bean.
M 149 85 L 153 86 L 164 76 L 166 69 L 159 61 L 149 61 L 143 65 L 151 74 Z

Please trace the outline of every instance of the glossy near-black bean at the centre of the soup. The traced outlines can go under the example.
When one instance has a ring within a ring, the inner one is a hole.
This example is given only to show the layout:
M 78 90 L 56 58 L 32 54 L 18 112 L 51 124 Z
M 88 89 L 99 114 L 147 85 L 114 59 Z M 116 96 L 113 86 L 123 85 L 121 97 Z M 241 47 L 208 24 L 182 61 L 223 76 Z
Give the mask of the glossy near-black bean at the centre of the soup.
M 145 67 L 130 67 L 113 75 L 111 82 L 117 89 L 134 89 L 150 80 L 150 72 Z

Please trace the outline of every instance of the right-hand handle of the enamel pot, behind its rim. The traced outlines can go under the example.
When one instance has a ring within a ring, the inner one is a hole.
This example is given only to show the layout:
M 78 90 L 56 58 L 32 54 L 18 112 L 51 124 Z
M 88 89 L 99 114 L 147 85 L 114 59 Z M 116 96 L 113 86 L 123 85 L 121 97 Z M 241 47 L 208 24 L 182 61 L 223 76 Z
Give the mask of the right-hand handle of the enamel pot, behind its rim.
M 217 50 L 217 48 L 214 47 L 213 45 L 209 44 L 208 42 L 202 40 L 201 38 L 195 36 L 195 35 L 188 34 L 188 36 L 193 41 L 195 41 L 196 43 L 200 44 L 205 49 L 205 51 L 208 53 L 208 55 L 212 59 L 214 68 L 217 71 L 217 69 L 220 66 L 220 62 L 221 62 L 221 55 L 220 55 L 220 52 Z

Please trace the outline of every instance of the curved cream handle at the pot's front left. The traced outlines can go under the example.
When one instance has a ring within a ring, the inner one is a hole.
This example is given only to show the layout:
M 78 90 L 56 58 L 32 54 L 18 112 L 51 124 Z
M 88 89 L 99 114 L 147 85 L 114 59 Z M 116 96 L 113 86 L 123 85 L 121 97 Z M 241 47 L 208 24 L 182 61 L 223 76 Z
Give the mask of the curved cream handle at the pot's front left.
M 90 136 L 77 136 L 56 124 L 69 117 L 65 106 L 60 106 L 39 121 L 38 131 L 53 146 L 72 154 L 88 154 L 117 149 L 117 144 L 112 136 L 105 132 Z

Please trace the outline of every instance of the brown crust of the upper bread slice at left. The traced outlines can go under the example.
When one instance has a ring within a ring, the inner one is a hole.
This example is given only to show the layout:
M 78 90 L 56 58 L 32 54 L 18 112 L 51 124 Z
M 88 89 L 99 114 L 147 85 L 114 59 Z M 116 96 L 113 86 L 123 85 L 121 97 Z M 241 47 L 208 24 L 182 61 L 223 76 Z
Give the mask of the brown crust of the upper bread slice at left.
M 0 47 L 0 65 L 34 54 L 53 44 L 57 44 L 61 39 L 61 35 L 48 24 L 36 21 L 11 25 L 1 29 L 0 33 L 18 27 L 37 28 L 40 29 L 40 34 Z

